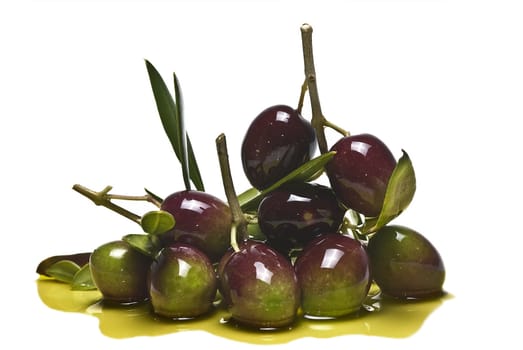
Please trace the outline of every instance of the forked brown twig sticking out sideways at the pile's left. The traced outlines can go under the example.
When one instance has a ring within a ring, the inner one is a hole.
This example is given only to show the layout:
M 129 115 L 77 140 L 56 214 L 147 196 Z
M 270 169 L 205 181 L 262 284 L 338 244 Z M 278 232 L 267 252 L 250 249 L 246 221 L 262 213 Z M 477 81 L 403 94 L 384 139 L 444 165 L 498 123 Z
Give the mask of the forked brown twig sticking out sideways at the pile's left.
M 158 203 L 156 199 L 154 199 L 150 195 L 144 195 L 144 196 L 126 196 L 126 195 L 115 195 L 115 194 L 109 194 L 109 191 L 112 190 L 112 186 L 106 186 L 103 190 L 97 192 L 93 191 L 85 186 L 75 184 L 73 186 L 73 190 L 80 193 L 81 195 L 89 198 L 94 202 L 96 205 L 101 205 L 103 207 L 106 207 L 107 209 L 110 209 L 127 219 L 137 223 L 140 225 L 141 222 L 141 216 L 117 205 L 111 202 L 113 199 L 121 199 L 121 200 L 133 200 L 133 201 L 147 201 L 155 204 L 158 206 Z

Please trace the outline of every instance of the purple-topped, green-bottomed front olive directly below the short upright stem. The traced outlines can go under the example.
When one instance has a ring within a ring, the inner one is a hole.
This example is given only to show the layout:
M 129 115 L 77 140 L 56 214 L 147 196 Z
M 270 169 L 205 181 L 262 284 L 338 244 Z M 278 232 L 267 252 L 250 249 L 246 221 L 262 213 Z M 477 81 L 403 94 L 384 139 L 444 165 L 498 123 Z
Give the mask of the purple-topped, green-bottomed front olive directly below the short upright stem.
M 289 260 L 270 246 L 245 241 L 225 262 L 221 290 L 231 316 L 254 328 L 290 326 L 297 314 L 300 290 Z

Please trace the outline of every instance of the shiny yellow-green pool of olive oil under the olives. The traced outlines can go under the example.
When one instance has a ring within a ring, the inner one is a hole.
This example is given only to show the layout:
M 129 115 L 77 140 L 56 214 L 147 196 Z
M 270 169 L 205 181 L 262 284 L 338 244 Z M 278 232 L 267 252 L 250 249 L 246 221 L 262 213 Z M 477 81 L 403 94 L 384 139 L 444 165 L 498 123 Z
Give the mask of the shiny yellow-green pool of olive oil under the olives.
M 226 310 L 217 306 L 212 312 L 193 320 L 169 320 L 156 316 L 149 303 L 108 305 L 98 291 L 72 291 L 70 286 L 52 279 L 39 278 L 38 295 L 50 308 L 97 317 L 100 331 L 111 338 L 157 336 L 193 330 L 251 344 L 281 344 L 303 337 L 332 338 L 361 334 L 405 338 L 418 331 L 425 319 L 451 296 L 424 301 L 396 301 L 369 293 L 358 315 L 333 320 L 298 317 L 289 329 L 250 330 L 230 320 Z

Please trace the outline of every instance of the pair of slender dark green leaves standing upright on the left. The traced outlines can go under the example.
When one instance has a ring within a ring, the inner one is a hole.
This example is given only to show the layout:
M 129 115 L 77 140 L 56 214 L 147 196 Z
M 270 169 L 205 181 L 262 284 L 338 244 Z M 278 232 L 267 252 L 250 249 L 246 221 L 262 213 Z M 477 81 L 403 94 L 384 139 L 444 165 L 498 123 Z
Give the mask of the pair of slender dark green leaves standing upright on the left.
M 145 60 L 145 64 L 163 128 L 182 167 L 185 188 L 190 189 L 190 178 L 196 189 L 204 191 L 193 148 L 185 132 L 182 93 L 178 78 L 173 74 L 175 96 L 173 99 L 160 73 L 148 60 Z

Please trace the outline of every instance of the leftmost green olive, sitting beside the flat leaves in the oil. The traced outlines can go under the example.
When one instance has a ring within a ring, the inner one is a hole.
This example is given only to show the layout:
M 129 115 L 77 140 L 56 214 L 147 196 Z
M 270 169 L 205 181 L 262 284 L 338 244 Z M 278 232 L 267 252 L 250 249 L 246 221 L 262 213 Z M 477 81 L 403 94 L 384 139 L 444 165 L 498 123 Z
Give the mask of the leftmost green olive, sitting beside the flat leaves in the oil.
M 89 259 L 91 277 L 103 299 L 134 303 L 149 298 L 147 274 L 152 259 L 125 241 L 112 241 L 96 248 Z

